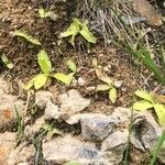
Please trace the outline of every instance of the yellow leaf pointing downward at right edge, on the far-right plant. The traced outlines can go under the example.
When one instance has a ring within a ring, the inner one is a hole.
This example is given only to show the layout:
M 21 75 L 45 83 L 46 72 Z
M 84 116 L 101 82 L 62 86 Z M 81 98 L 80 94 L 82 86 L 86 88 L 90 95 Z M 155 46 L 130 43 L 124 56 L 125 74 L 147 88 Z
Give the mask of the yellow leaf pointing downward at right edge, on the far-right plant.
M 154 105 L 155 113 L 162 127 L 165 127 L 165 106 L 161 103 Z

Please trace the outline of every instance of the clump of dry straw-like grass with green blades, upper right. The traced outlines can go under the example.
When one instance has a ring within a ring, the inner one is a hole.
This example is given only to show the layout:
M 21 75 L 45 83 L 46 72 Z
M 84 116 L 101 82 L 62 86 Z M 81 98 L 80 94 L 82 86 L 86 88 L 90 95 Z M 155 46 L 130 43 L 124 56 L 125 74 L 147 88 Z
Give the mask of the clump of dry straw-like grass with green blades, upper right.
M 105 40 L 106 46 L 116 45 L 140 59 L 160 82 L 165 84 L 165 57 L 161 47 L 164 29 L 158 33 L 139 22 L 140 16 L 128 0 L 82 0 L 77 9 L 78 16 L 88 19 L 91 30 Z M 157 52 L 160 47 L 162 54 Z

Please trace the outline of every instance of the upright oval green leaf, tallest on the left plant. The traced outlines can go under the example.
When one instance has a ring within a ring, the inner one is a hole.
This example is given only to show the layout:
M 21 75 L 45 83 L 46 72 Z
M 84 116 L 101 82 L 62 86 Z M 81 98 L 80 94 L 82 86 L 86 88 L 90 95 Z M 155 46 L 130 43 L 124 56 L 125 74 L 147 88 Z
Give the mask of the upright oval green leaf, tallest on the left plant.
M 47 53 L 44 50 L 40 51 L 40 53 L 37 54 L 37 63 L 44 74 L 51 73 L 52 63 Z

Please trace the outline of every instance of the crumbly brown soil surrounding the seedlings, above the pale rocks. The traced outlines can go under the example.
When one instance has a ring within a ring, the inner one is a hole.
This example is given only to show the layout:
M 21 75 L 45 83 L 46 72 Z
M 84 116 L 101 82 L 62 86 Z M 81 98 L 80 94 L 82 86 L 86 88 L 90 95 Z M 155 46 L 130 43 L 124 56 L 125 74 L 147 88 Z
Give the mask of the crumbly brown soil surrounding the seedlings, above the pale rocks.
M 41 19 L 37 14 L 38 7 L 53 8 L 58 14 L 57 21 L 50 19 Z M 13 81 L 16 86 L 16 80 L 21 79 L 26 82 L 34 75 L 40 73 L 40 67 L 36 62 L 36 54 L 41 50 L 40 46 L 31 45 L 20 37 L 13 37 L 11 32 L 14 30 L 23 30 L 32 36 L 38 38 L 53 63 L 56 72 L 67 72 L 65 62 L 68 58 L 75 59 L 79 72 L 76 77 L 84 77 L 86 80 L 85 87 L 74 86 L 85 97 L 90 97 L 92 106 L 87 111 L 111 113 L 111 107 L 130 107 L 133 102 L 133 94 L 140 88 L 145 77 L 150 76 L 146 68 L 141 65 L 135 65 L 134 59 L 122 53 L 116 47 L 105 47 L 101 43 L 92 46 L 90 53 L 87 53 L 86 46 L 81 43 L 74 48 L 68 43 L 68 40 L 63 40 L 58 45 L 58 35 L 63 32 L 70 20 L 72 11 L 69 3 L 57 2 L 56 6 L 50 2 L 32 2 L 30 0 L 1 0 L 0 2 L 0 53 L 4 53 L 14 64 L 13 69 L 7 70 L 6 66 L 0 62 L 0 74 L 7 74 L 7 79 Z M 69 10 L 68 10 L 69 9 Z M 92 58 L 98 59 L 102 67 L 111 66 L 107 73 L 111 78 L 123 80 L 122 87 L 118 90 L 118 100 L 116 105 L 111 105 L 108 95 L 105 92 L 86 91 L 87 87 L 100 84 L 97 79 L 91 66 Z M 143 70 L 144 69 L 144 70 Z M 58 92 L 66 91 L 67 88 L 62 84 L 50 82 L 48 90 L 55 86 Z M 154 89 L 157 84 L 152 79 L 146 88 Z M 15 88 L 18 90 L 18 88 Z M 161 89 L 160 89 L 161 90 Z M 18 92 L 18 91 L 15 91 Z

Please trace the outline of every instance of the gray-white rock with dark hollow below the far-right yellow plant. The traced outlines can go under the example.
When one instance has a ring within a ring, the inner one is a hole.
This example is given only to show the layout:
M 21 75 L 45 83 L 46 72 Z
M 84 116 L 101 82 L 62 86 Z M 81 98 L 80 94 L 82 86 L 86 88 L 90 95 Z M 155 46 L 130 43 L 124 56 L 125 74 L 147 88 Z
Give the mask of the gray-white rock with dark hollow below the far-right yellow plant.
M 163 129 L 156 123 L 148 111 L 138 112 L 131 134 L 131 143 L 140 150 L 152 151 Z

